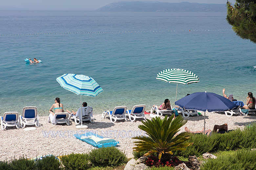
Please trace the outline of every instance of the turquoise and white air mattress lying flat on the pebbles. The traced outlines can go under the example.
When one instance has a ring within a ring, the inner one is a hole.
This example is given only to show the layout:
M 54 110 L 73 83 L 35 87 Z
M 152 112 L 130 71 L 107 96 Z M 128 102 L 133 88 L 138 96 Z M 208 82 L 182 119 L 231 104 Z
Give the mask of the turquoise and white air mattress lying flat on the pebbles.
M 74 134 L 74 136 L 81 141 L 84 141 L 99 148 L 116 146 L 117 144 L 119 144 L 119 142 L 114 139 L 105 138 L 92 132 L 86 132 L 84 134 Z

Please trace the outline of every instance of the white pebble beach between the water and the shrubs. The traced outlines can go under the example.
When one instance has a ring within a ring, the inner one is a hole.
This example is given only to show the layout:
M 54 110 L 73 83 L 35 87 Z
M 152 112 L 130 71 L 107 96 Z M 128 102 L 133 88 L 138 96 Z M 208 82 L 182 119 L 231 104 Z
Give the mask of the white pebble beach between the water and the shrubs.
M 190 116 L 185 118 L 187 123 L 181 127 L 180 132 L 185 131 L 184 127 L 188 127 L 192 131 L 201 130 L 203 128 L 203 116 Z M 39 113 L 40 115 L 40 113 Z M 147 119 L 151 119 L 149 115 L 145 115 Z M 27 157 L 34 158 L 37 156 L 52 154 L 55 156 L 71 154 L 71 153 L 88 153 L 94 146 L 80 141 L 73 137 L 73 134 L 82 131 L 93 131 L 98 135 L 108 135 L 106 137 L 115 139 L 119 142 L 116 147 L 123 151 L 127 156 L 133 152 L 135 141 L 133 136 L 143 135 L 138 125 L 141 125 L 142 119 L 136 119 L 135 122 L 125 120 L 117 120 L 111 123 L 109 117 L 103 119 L 101 114 L 94 114 L 94 123 L 84 123 L 88 129 L 76 129 L 75 122 L 70 121 L 70 126 L 66 124 L 57 124 L 53 126 L 48 122 L 48 116 L 39 116 L 39 127 L 35 130 L 26 131 L 25 129 L 17 129 L 16 127 L 7 127 L 0 130 L 0 161 L 10 160 L 12 158 Z M 128 116 L 127 116 L 128 118 Z M 255 121 L 256 116 L 249 114 L 248 116 L 233 115 L 227 117 L 224 112 L 206 112 L 205 129 L 213 129 L 214 125 L 228 124 L 228 129 L 243 128 Z M 27 126 L 26 126 L 27 127 Z M 34 126 L 28 126 L 34 127 Z

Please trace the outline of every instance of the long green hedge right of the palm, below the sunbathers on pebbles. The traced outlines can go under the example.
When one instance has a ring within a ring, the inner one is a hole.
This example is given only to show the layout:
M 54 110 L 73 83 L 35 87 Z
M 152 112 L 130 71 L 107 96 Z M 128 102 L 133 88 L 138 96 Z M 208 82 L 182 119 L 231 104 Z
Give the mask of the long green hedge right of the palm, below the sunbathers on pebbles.
M 186 141 L 193 143 L 185 151 L 176 151 L 175 155 L 188 157 L 189 155 L 200 156 L 205 152 L 214 153 L 217 151 L 228 151 L 237 149 L 251 149 L 256 147 L 256 124 L 245 127 L 244 130 L 236 129 L 229 133 L 212 133 L 207 137 L 203 134 L 196 134 Z

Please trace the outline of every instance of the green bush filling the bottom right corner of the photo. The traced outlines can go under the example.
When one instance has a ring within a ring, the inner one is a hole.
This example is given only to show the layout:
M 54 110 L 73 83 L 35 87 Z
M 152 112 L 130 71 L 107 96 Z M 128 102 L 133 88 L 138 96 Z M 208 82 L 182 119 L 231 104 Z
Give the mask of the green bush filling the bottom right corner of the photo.
M 209 159 L 202 164 L 201 170 L 252 170 L 256 169 L 256 151 L 238 150 L 217 159 Z

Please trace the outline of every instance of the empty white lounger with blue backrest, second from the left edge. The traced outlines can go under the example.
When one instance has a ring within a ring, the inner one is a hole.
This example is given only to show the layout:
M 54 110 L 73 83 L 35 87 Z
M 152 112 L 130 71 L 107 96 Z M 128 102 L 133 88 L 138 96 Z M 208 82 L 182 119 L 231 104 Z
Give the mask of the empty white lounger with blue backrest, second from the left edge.
M 25 128 L 26 125 L 35 125 L 39 127 L 37 108 L 34 106 L 24 107 L 20 115 L 20 126 Z

